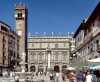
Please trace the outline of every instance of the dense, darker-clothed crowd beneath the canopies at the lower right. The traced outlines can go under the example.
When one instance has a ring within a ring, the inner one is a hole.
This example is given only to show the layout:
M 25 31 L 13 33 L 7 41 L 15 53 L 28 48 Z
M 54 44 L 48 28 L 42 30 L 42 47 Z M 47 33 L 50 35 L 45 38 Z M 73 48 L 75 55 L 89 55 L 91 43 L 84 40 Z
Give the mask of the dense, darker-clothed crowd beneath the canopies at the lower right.
M 100 82 L 100 70 L 68 70 L 66 75 L 69 82 Z

